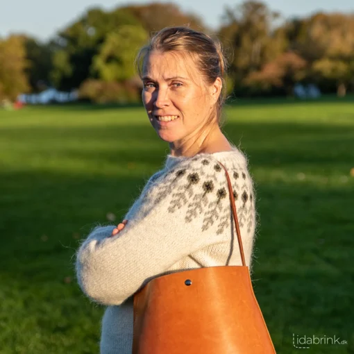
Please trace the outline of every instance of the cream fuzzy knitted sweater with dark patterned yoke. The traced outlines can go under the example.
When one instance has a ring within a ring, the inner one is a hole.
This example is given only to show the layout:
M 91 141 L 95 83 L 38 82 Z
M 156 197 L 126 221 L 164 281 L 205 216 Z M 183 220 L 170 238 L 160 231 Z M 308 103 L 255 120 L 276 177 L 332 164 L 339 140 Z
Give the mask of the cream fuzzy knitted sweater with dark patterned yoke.
M 133 294 L 155 277 L 224 265 L 242 265 L 224 168 L 235 196 L 246 265 L 251 267 L 255 196 L 244 155 L 233 151 L 194 157 L 167 155 L 163 169 L 147 181 L 124 219 L 98 226 L 81 244 L 76 275 L 83 292 L 108 305 L 101 354 L 130 354 Z M 230 280 L 232 281 L 232 280 Z

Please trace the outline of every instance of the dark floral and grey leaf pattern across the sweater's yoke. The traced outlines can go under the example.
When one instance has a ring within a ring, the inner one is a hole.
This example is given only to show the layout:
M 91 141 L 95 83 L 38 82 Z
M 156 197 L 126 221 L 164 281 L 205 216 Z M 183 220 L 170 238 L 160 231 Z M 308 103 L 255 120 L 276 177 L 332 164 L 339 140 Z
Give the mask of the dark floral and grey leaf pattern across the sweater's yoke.
M 203 217 L 201 232 L 208 230 L 210 226 L 217 223 L 216 233 L 220 235 L 225 228 L 230 226 L 230 199 L 224 168 L 211 157 L 193 158 L 192 162 L 194 162 L 193 168 L 187 162 L 187 167 L 183 164 L 171 169 L 166 174 L 162 174 L 162 176 L 160 173 L 155 174 L 149 182 L 158 183 L 158 196 L 153 200 L 148 192 L 143 197 L 142 203 L 160 203 L 167 196 L 172 195 L 167 207 L 171 214 L 187 205 L 185 223 L 191 222 L 196 217 Z M 212 165 L 212 172 L 214 173 L 203 169 L 203 166 L 208 165 Z M 232 165 L 231 170 L 228 167 L 226 169 L 233 186 L 235 201 L 238 200 L 240 195 L 243 202 L 242 208 L 237 210 L 239 225 L 242 227 L 246 224 L 247 232 L 250 233 L 255 218 L 252 185 L 249 183 L 251 177 L 248 176 L 248 183 L 246 183 L 248 171 L 240 164 Z M 218 176 L 219 174 L 221 176 Z M 225 186 L 220 186 L 220 178 L 225 179 Z

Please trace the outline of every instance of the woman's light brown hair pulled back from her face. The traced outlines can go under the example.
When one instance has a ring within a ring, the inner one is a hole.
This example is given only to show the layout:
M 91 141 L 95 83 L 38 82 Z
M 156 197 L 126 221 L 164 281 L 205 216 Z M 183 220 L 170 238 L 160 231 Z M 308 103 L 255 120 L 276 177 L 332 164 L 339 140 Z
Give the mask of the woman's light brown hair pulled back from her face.
M 217 77 L 221 78 L 222 90 L 217 101 L 217 123 L 221 123 L 221 111 L 226 99 L 226 83 L 224 75 L 227 69 L 227 60 L 219 40 L 213 40 L 209 35 L 194 31 L 191 28 L 178 26 L 166 27 L 158 31 L 146 46 L 140 49 L 135 58 L 135 65 L 142 77 L 145 59 L 152 51 L 168 51 L 190 54 L 194 59 L 197 69 L 201 72 L 206 83 L 210 85 Z

